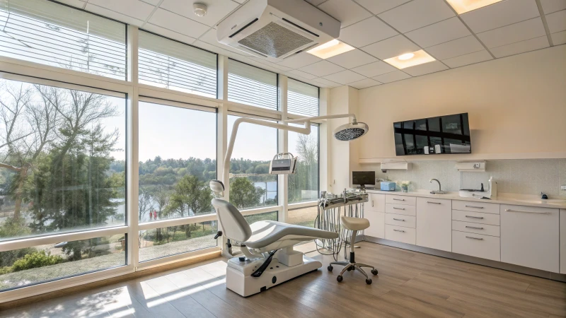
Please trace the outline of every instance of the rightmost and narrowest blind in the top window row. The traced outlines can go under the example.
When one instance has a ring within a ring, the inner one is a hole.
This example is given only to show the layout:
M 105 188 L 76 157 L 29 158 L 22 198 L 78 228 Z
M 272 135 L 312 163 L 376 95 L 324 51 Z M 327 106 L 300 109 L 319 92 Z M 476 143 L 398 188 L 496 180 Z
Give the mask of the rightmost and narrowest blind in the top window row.
M 303 116 L 318 116 L 318 87 L 289 78 L 287 81 L 287 112 Z

